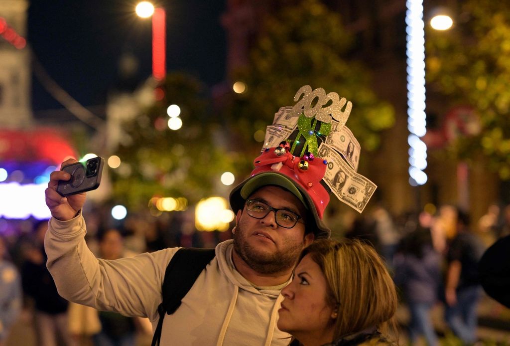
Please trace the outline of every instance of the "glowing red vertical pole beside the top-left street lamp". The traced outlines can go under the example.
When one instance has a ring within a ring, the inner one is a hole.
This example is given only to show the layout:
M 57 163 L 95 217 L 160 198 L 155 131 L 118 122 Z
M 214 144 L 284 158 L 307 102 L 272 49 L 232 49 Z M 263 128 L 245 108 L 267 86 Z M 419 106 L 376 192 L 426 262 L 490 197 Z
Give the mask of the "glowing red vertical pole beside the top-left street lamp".
M 166 75 L 165 10 L 156 8 L 152 14 L 152 76 L 158 81 Z

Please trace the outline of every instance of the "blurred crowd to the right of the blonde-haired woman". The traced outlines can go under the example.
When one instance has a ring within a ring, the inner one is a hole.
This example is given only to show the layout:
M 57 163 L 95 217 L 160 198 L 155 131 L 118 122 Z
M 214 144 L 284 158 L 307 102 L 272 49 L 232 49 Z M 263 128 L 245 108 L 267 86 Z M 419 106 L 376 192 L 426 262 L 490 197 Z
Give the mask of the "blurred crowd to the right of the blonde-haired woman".
M 491 205 L 478 220 L 453 205 L 427 205 L 416 214 L 392 217 L 377 206 L 356 218 L 348 238 L 371 242 L 394 274 L 409 312 L 411 344 L 440 344 L 432 309 L 442 306 L 443 324 L 460 344 L 477 344 L 478 304 L 483 296 L 478 261 L 497 239 L 510 234 L 510 205 Z M 495 309 L 502 309 L 499 304 Z M 442 331 L 444 333 L 444 331 Z M 483 343 L 482 343 L 483 344 Z

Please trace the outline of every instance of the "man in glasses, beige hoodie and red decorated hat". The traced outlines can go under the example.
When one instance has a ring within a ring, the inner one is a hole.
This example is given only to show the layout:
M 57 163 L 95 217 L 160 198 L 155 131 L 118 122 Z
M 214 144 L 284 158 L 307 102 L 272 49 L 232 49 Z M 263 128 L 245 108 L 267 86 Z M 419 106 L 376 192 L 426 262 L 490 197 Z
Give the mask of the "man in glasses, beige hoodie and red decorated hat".
M 314 160 L 308 152 L 293 154 L 289 142 L 266 147 L 254 161 L 251 176 L 231 192 L 237 213 L 234 239 L 216 246 L 216 257 L 182 305 L 164 318 L 161 344 L 288 344 L 289 335 L 276 328 L 279 292 L 291 279 L 301 250 L 330 234 L 322 222 L 329 202 L 321 184 L 327 161 Z M 47 266 L 60 294 L 100 310 L 147 316 L 154 329 L 165 269 L 177 249 L 114 261 L 96 259 L 84 241 L 85 194 L 62 197 L 56 191 L 59 180 L 69 179 L 55 171 L 46 189 L 53 216 L 45 240 Z

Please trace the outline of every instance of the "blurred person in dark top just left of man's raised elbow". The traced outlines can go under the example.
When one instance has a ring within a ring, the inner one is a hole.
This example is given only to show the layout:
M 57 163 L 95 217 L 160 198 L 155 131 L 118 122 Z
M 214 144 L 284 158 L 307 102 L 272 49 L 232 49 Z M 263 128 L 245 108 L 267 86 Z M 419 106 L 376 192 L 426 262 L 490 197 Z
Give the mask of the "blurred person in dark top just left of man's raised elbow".
M 57 292 L 52 276 L 46 268 L 44 235 L 48 220 L 38 221 L 34 226 L 34 239 L 25 243 L 25 262 L 21 268 L 24 294 L 34 303 L 34 319 L 38 346 L 54 346 L 58 340 L 65 345 L 75 345 L 68 331 L 68 302 Z

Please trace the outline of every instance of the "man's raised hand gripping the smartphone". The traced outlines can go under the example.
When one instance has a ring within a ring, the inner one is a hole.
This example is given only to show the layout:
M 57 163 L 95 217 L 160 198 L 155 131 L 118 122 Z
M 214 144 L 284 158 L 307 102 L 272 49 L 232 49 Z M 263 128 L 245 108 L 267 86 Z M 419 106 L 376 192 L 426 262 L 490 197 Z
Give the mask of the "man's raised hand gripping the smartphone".
M 61 167 L 78 162 L 74 159 L 66 160 Z M 85 192 L 63 197 L 57 192 L 59 180 L 69 180 L 71 176 L 62 170 L 56 170 L 49 176 L 48 188 L 45 190 L 46 205 L 52 216 L 56 219 L 67 221 L 76 216 L 85 204 Z

